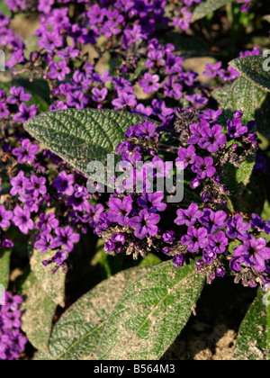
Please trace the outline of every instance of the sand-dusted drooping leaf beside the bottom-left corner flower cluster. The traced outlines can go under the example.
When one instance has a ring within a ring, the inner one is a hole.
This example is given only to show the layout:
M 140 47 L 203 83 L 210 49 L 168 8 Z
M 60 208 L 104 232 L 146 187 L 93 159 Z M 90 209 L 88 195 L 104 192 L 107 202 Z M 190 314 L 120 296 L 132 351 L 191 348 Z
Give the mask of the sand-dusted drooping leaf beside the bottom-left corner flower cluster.
M 48 351 L 52 320 L 57 304 L 43 291 L 40 282 L 31 272 L 22 285 L 22 329 L 33 347 Z

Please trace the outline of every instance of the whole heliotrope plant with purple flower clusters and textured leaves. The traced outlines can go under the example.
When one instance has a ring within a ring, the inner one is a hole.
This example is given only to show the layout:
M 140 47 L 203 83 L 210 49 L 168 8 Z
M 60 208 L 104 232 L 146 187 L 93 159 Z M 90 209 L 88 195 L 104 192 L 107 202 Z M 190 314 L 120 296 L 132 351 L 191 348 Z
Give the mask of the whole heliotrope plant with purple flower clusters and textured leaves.
M 158 359 L 205 280 L 230 275 L 259 287 L 247 321 L 261 316 L 251 321 L 260 354 L 244 324 L 235 357 L 267 358 L 270 221 L 264 189 L 263 206 L 246 199 L 269 175 L 259 150 L 269 139 L 262 49 L 208 63 L 206 85 L 184 59 L 194 54 L 186 42 L 208 33 L 196 20 L 226 4 L 245 25 L 251 0 L 0 8 L 9 75 L 0 81 L 0 359 L 20 358 L 27 339 L 36 359 Z M 226 11 L 208 16 L 210 45 Z M 35 45 L 14 32 L 22 13 L 38 13 Z M 211 50 L 203 54 L 220 47 Z M 112 155 L 124 180 L 108 173 L 89 190 L 88 164 Z M 105 275 L 93 283 L 97 264 Z M 60 320 L 58 306 L 68 308 Z

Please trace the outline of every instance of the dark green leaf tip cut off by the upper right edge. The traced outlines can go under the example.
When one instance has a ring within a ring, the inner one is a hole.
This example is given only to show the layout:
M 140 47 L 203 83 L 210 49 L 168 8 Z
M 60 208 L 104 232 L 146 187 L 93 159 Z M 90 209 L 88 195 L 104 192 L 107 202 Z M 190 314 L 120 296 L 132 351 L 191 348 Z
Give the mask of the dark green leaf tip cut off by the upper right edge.
M 264 69 L 266 59 L 261 56 L 237 58 L 229 62 L 250 83 L 270 92 L 270 73 Z

